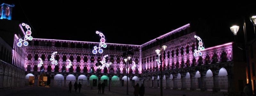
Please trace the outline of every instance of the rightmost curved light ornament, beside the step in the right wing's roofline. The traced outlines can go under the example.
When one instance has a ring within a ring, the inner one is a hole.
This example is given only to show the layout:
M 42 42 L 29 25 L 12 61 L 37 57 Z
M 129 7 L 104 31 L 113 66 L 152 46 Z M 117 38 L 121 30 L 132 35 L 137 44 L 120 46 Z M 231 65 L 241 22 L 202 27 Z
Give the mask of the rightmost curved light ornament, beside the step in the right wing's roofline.
M 195 38 L 197 38 L 197 40 L 198 40 L 198 49 L 196 50 L 194 50 L 194 56 L 196 57 L 196 56 L 202 56 L 202 52 L 201 51 L 203 51 L 204 50 L 204 43 L 203 43 L 203 41 L 202 41 L 202 39 L 199 37 L 199 36 L 194 36 Z

